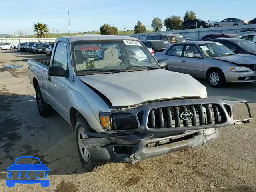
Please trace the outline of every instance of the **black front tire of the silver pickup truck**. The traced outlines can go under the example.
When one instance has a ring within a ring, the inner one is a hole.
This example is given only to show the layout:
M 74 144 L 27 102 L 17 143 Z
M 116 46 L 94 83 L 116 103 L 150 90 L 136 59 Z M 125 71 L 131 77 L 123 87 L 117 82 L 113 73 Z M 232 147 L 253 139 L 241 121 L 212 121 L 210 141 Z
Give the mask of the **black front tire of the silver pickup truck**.
M 78 153 L 79 153 L 79 158 L 80 161 L 82 163 L 82 166 L 88 171 L 88 172 L 93 172 L 93 171 L 98 171 L 101 170 L 104 167 L 104 164 L 106 162 L 95 162 L 94 158 L 93 158 L 93 154 L 90 153 L 85 146 L 84 150 L 82 150 L 82 147 L 80 146 L 81 144 L 79 144 L 79 139 L 81 138 L 90 138 L 90 136 L 87 136 L 85 134 L 81 134 L 81 129 L 85 130 L 85 131 L 90 131 L 90 125 L 88 124 L 88 122 L 82 117 L 82 116 L 78 116 L 77 120 L 76 120 L 76 124 L 75 124 L 75 130 L 76 130 L 76 144 L 77 144 L 77 149 L 78 149 Z M 87 152 L 86 152 L 87 150 Z M 82 151 L 82 152 L 81 152 Z M 85 153 L 86 157 L 82 156 L 82 153 Z M 86 159 L 86 160 L 85 160 Z

